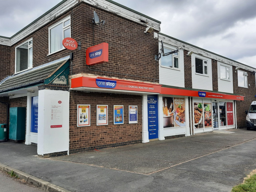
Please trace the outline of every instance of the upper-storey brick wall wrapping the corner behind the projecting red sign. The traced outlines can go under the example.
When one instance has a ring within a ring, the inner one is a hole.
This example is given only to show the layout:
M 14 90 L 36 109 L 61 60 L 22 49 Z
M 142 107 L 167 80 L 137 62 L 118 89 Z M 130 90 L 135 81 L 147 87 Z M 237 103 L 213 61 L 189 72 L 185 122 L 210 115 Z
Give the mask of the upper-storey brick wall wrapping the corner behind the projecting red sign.
M 93 46 L 93 10 L 106 21 L 103 28 L 94 26 L 94 44 L 109 44 L 109 62 L 95 65 L 90 70 L 86 65 L 86 49 Z M 71 37 L 81 41 L 81 50 L 62 50 L 48 55 L 48 27 L 71 15 Z M 38 29 L 12 46 L 11 73 L 15 69 L 15 46 L 33 38 L 33 67 L 68 56 L 74 52 L 73 74 L 93 73 L 111 77 L 158 82 L 159 69 L 154 60 L 158 52 L 158 39 L 153 32 L 145 34 L 145 26 L 124 19 L 107 11 L 80 3 L 60 17 Z M 114 73 L 113 73 L 114 72 Z

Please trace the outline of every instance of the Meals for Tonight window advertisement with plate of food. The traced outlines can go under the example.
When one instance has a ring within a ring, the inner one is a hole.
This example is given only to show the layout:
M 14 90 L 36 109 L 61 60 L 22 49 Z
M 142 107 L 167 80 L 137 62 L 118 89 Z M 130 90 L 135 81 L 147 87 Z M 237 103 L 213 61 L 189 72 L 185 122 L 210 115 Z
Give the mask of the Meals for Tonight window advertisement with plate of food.
M 186 126 L 185 122 L 185 99 L 173 98 L 174 101 L 174 126 Z

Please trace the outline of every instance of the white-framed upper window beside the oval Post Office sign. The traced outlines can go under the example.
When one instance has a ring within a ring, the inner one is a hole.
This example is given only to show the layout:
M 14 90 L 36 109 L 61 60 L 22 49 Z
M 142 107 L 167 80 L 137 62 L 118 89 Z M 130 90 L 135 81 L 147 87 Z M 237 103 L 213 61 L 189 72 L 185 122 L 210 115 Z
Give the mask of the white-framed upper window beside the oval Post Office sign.
M 62 40 L 71 36 L 70 16 L 49 27 L 49 54 L 65 49 Z

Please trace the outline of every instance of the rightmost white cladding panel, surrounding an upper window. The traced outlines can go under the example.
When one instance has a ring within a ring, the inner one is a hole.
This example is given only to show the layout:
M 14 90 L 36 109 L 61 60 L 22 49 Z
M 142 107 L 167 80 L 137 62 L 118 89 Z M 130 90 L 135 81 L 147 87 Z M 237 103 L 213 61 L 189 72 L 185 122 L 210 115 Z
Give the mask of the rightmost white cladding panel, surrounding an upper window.
M 233 72 L 232 72 L 232 66 L 227 65 L 225 63 L 217 62 L 218 64 L 218 91 L 220 92 L 226 92 L 226 93 L 233 93 Z M 220 65 L 229 67 L 229 79 L 228 80 L 223 80 L 220 79 Z

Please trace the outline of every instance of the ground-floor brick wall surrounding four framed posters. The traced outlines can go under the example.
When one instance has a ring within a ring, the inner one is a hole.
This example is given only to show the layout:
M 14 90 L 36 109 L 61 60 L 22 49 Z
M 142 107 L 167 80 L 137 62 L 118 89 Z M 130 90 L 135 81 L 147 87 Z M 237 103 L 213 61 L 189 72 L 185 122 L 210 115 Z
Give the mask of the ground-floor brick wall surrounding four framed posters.
M 77 104 L 91 105 L 91 126 L 77 127 Z M 108 105 L 108 125 L 96 126 L 97 104 Z M 124 105 L 124 124 L 113 124 L 113 105 Z M 128 105 L 138 105 L 138 123 L 128 123 Z M 142 141 L 142 98 L 140 95 L 70 91 L 70 153 Z

